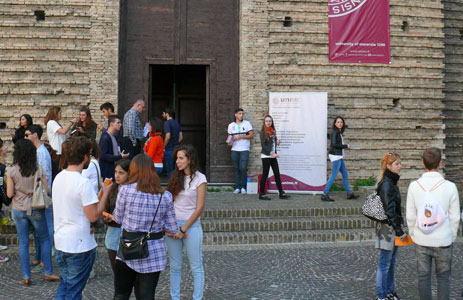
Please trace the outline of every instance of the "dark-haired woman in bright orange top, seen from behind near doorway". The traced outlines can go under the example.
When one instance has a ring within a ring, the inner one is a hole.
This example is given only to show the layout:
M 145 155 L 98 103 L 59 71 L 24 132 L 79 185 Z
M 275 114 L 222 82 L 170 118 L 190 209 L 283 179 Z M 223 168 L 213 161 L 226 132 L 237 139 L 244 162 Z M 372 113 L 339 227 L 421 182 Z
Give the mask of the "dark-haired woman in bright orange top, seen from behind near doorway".
M 144 150 L 153 160 L 158 175 L 162 172 L 162 159 L 164 158 L 164 142 L 162 140 L 162 121 L 153 118 L 148 123 L 149 138 L 145 142 Z

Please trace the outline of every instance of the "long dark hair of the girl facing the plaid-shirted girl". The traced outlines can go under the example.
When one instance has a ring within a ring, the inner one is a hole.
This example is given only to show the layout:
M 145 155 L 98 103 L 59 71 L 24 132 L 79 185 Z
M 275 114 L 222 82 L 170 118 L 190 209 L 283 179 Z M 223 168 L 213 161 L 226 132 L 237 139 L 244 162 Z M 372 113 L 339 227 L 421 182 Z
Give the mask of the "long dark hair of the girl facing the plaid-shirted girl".
M 190 160 L 190 183 L 193 181 L 196 171 L 199 171 L 199 159 L 198 152 L 193 145 L 179 145 L 174 150 L 174 164 L 177 160 L 177 153 L 179 151 L 185 152 L 186 158 Z M 169 180 L 167 190 L 172 193 L 174 198 L 185 188 L 185 172 L 179 170 L 177 164 L 175 164 L 174 173 Z

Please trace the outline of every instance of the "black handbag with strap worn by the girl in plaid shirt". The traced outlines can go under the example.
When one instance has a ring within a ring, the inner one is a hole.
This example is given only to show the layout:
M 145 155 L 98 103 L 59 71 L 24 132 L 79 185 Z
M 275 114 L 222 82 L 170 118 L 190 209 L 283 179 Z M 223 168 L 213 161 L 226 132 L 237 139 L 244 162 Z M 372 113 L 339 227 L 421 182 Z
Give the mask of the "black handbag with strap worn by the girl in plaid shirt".
M 122 258 L 123 260 L 147 258 L 149 256 L 148 240 L 162 238 L 163 236 L 162 233 L 152 233 L 151 232 L 151 228 L 153 227 L 154 220 L 156 219 L 156 215 L 158 214 L 159 206 L 161 206 L 161 201 L 162 201 L 162 195 L 161 195 L 161 198 L 159 199 L 159 204 L 158 204 L 158 207 L 156 208 L 156 212 L 154 213 L 153 221 L 151 222 L 151 226 L 148 232 L 140 232 L 138 234 L 136 233 L 127 234 L 125 230 L 122 232 L 122 235 L 119 238 L 119 249 L 117 251 L 117 255 L 120 258 Z M 138 236 L 134 238 L 133 234 L 136 234 Z M 153 237 L 151 235 L 153 235 Z

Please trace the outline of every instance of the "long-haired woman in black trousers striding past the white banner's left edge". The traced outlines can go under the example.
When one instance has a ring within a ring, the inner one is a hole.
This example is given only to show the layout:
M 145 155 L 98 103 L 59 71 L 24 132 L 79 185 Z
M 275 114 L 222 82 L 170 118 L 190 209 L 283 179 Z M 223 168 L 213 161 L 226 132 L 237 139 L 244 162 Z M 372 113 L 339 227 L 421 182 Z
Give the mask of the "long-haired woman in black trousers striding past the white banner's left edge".
M 279 157 L 277 154 L 277 146 L 280 141 L 277 138 L 273 118 L 270 115 L 265 116 L 262 130 L 260 131 L 260 144 L 262 145 L 261 159 L 262 159 L 262 177 L 260 179 L 259 200 L 271 200 L 270 197 L 265 195 L 265 182 L 268 178 L 268 172 L 272 167 L 275 182 L 280 193 L 280 199 L 289 199 L 290 196 L 286 195 L 281 185 L 280 168 L 278 167 Z

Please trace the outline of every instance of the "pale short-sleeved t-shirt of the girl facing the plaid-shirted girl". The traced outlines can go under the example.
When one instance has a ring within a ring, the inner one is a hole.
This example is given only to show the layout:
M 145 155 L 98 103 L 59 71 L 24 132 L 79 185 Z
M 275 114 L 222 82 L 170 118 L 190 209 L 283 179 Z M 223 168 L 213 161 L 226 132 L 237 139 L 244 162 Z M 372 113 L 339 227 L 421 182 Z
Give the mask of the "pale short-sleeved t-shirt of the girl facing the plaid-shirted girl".
M 188 220 L 196 209 L 198 202 L 198 187 L 207 183 L 206 176 L 196 171 L 190 183 L 191 176 L 185 176 L 184 189 L 175 197 L 174 208 L 177 220 Z

